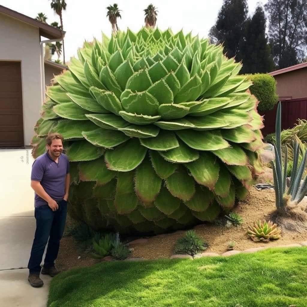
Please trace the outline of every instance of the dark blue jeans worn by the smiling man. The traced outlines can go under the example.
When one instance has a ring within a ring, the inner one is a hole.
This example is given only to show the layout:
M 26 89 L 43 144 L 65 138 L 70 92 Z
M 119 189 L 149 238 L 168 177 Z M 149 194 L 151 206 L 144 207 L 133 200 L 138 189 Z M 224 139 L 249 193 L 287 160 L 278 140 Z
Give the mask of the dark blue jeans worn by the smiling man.
M 54 261 L 59 252 L 60 239 L 64 232 L 67 214 L 67 201 L 61 200 L 57 203 L 59 209 L 56 211 L 52 211 L 48 205 L 35 208 L 36 231 L 28 264 L 30 274 L 41 272 L 41 261 L 48 238 L 49 243 L 44 267 L 49 268 L 54 266 Z

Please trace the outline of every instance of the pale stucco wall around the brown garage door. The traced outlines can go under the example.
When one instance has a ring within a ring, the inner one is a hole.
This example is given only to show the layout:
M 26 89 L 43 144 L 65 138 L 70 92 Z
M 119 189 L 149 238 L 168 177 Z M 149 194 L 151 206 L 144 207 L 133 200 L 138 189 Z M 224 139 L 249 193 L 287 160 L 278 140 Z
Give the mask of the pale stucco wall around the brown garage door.
M 0 14 L 0 61 L 21 61 L 24 144 L 30 145 L 41 108 L 39 29 Z

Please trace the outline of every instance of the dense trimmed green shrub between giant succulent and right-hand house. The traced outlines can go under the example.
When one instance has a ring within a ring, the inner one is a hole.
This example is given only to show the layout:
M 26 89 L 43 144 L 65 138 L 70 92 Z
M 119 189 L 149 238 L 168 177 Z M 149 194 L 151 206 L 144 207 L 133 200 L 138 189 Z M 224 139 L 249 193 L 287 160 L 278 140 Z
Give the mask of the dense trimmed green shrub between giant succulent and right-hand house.
M 278 102 L 274 77 L 269 74 L 255 74 L 249 75 L 249 78 L 253 82 L 250 91 L 259 100 L 258 110 L 272 110 Z

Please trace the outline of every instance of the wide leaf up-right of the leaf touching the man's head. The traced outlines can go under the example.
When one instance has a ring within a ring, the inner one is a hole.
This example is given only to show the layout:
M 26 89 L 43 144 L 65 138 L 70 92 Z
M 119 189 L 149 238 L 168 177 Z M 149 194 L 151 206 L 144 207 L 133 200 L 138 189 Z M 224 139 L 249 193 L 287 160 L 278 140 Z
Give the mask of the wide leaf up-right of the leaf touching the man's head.
M 95 128 L 97 128 L 97 126 Z M 120 131 L 107 130 L 103 128 L 95 129 L 95 128 L 92 130 L 88 129 L 82 130 L 82 136 L 88 142 L 90 142 L 95 146 L 113 148 L 129 140 L 129 137 Z

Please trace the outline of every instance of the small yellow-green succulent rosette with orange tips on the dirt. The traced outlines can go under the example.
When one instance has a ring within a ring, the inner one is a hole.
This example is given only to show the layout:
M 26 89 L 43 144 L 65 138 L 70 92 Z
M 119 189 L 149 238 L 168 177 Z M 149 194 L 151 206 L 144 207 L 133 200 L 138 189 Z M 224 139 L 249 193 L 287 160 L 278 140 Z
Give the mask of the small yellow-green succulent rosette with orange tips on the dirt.
M 271 221 L 259 220 L 254 222 L 253 226 L 250 226 L 247 234 L 255 242 L 263 241 L 269 242 L 271 240 L 277 240 L 280 238 L 281 230 Z

